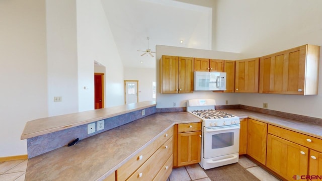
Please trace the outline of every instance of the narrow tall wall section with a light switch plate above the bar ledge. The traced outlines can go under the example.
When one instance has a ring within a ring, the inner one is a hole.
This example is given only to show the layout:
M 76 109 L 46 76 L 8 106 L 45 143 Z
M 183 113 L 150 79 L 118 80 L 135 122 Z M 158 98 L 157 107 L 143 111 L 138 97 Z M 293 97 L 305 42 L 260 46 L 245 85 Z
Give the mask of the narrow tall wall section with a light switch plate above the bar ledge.
M 78 112 L 76 1 L 46 1 L 46 25 L 49 116 Z

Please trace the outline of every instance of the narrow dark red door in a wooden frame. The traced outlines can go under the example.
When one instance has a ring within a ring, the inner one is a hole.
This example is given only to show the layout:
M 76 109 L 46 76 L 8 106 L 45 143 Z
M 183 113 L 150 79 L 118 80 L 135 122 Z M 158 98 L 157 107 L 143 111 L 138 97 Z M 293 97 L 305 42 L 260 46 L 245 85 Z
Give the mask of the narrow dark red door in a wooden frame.
M 94 73 L 95 109 L 104 108 L 104 73 Z

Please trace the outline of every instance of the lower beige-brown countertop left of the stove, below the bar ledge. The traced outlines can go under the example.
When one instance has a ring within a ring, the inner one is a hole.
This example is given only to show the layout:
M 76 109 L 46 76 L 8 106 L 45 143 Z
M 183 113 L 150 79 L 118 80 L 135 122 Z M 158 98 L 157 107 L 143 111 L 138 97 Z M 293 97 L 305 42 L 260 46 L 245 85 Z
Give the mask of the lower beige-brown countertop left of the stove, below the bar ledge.
M 187 112 L 156 113 L 28 160 L 26 180 L 103 180 L 177 123 L 201 122 Z

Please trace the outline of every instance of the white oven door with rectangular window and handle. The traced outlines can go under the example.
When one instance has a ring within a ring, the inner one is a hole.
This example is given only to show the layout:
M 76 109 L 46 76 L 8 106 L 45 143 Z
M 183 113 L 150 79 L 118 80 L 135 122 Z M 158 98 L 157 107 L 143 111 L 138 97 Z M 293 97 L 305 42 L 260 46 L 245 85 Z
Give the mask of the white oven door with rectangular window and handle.
M 217 156 L 239 152 L 240 125 L 204 127 L 203 157 Z

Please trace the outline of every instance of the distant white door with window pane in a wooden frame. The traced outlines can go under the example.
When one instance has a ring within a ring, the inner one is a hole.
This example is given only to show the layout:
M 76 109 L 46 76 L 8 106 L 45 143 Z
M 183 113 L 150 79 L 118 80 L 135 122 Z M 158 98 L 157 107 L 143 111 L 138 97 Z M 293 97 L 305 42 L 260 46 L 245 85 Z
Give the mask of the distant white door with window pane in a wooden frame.
M 138 92 L 138 80 L 124 80 L 125 88 L 125 104 L 137 103 L 139 101 Z

